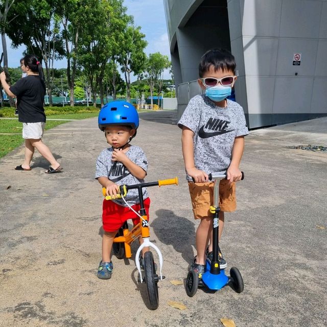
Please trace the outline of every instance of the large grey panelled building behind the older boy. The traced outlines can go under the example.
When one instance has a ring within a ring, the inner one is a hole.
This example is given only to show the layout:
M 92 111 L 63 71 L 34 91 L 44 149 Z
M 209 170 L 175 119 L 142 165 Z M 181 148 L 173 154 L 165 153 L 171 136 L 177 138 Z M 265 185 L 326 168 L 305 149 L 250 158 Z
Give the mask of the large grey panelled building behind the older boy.
M 212 48 L 236 58 L 249 128 L 327 115 L 327 0 L 164 0 L 182 113 Z M 327 128 L 326 128 L 327 130 Z

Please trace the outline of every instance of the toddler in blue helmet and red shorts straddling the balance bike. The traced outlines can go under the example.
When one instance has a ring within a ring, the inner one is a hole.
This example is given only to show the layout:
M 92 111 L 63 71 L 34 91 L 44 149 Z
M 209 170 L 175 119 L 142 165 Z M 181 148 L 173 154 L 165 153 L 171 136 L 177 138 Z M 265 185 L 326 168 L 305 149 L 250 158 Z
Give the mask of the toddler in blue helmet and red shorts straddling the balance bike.
M 97 159 L 95 178 L 106 188 L 106 195 L 114 197 L 119 194 L 119 185 L 144 182 L 148 160 L 140 147 L 129 144 L 136 135 L 139 124 L 137 111 L 132 104 L 123 101 L 106 104 L 99 112 L 98 123 L 110 147 L 104 149 Z M 146 188 L 143 189 L 143 197 L 149 217 L 150 198 Z M 125 200 L 136 212 L 139 211 L 138 190 L 129 190 Z M 113 265 L 110 255 L 113 239 L 127 219 L 133 219 L 134 224 L 139 222 L 139 218 L 126 206 L 123 199 L 103 201 L 104 234 L 102 260 L 98 269 L 98 277 L 101 279 L 111 277 Z

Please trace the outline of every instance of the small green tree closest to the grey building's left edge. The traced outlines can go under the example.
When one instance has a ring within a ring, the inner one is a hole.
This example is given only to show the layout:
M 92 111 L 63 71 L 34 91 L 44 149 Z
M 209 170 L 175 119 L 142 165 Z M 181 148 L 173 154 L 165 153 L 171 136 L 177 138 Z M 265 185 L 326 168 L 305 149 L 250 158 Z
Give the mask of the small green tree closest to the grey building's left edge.
M 151 105 L 153 105 L 153 91 L 156 84 L 159 85 L 158 94 L 160 94 L 162 86 L 161 74 L 169 67 L 170 61 L 167 56 L 161 55 L 159 52 L 149 54 L 149 58 L 145 64 L 145 75 L 150 86 Z M 159 101 L 159 99 L 158 99 Z M 159 102 L 158 102 L 159 104 Z

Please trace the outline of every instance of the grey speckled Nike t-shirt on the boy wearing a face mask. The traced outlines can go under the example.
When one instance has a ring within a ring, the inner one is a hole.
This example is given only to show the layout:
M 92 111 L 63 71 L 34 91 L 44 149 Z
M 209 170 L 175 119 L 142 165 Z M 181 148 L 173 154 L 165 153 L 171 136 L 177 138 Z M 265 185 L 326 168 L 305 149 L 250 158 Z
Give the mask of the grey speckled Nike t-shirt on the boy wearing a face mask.
M 178 127 L 183 126 L 194 132 L 195 167 L 207 174 L 226 172 L 235 137 L 249 133 L 238 103 L 227 99 L 227 107 L 221 108 L 205 95 L 190 100 L 178 122 Z M 192 177 L 186 174 L 186 179 Z

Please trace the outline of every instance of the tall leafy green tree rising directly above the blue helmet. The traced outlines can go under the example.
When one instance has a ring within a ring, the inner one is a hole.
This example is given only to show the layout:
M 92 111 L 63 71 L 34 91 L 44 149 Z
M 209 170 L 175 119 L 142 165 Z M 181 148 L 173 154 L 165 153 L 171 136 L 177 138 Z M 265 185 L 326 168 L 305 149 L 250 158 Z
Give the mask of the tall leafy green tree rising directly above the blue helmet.
M 144 39 L 145 34 L 141 32 L 141 27 L 127 26 L 123 40 L 120 42 L 120 54 L 118 62 L 122 66 L 127 87 L 127 101 L 130 101 L 130 74 L 138 75 L 144 69 L 146 54 L 144 49 L 148 42 Z

